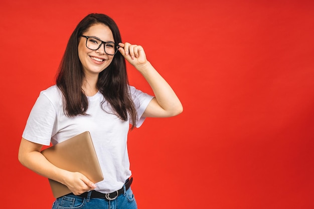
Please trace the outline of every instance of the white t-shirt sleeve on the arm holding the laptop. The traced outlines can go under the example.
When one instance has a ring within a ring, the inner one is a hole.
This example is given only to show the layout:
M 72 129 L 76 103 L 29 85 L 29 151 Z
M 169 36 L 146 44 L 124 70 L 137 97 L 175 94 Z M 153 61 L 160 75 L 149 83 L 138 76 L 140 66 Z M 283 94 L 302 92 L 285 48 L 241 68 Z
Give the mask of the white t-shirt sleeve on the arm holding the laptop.
M 56 118 L 53 104 L 41 93 L 31 110 L 22 137 L 38 144 L 50 145 Z

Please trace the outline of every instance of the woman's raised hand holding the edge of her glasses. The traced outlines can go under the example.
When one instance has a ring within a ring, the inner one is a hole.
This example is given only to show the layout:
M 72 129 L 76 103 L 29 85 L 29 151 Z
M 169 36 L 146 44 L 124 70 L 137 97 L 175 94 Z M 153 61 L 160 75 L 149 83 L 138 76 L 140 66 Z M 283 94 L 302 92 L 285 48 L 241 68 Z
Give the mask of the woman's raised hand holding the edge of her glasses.
M 119 52 L 136 69 L 138 69 L 142 65 L 145 65 L 148 62 L 144 49 L 141 46 L 132 45 L 127 42 L 125 42 L 124 44 L 119 43 L 119 46 Z

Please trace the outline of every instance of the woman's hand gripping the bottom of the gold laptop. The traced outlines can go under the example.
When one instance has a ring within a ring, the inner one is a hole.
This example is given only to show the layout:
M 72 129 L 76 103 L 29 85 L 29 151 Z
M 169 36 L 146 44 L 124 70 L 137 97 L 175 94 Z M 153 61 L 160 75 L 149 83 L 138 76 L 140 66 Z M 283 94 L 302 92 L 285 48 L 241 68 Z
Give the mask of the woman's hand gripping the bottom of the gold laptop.
M 80 172 L 70 172 L 65 170 L 63 175 L 63 184 L 65 184 L 75 195 L 96 188 L 95 184 Z

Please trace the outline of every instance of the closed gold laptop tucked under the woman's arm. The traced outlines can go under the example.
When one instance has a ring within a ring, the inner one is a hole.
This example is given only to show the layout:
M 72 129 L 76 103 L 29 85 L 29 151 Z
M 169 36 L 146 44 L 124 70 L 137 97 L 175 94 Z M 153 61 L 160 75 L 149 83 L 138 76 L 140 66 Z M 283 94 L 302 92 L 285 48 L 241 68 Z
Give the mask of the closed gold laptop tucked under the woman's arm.
M 93 141 L 88 131 L 44 149 L 42 154 L 55 166 L 72 172 L 80 172 L 94 183 L 103 180 Z M 58 181 L 49 179 L 49 183 L 55 198 L 71 193 L 66 185 Z

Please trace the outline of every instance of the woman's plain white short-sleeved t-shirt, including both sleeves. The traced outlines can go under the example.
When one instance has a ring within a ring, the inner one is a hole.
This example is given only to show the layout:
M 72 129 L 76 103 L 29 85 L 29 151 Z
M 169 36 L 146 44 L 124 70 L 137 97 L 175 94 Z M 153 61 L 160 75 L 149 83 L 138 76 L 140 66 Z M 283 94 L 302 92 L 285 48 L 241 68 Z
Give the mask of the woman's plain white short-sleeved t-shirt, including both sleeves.
M 130 86 L 139 127 L 142 114 L 152 96 Z M 129 121 L 123 121 L 110 111 L 108 103 L 101 108 L 103 95 L 98 92 L 88 98 L 88 115 L 68 117 L 63 111 L 63 98 L 54 85 L 42 91 L 30 113 L 23 138 L 43 145 L 54 145 L 84 131 L 89 131 L 102 169 L 104 180 L 96 183 L 97 191 L 110 193 L 120 189 L 125 179 L 131 176 L 127 153 Z M 110 113 L 111 112 L 111 113 Z

